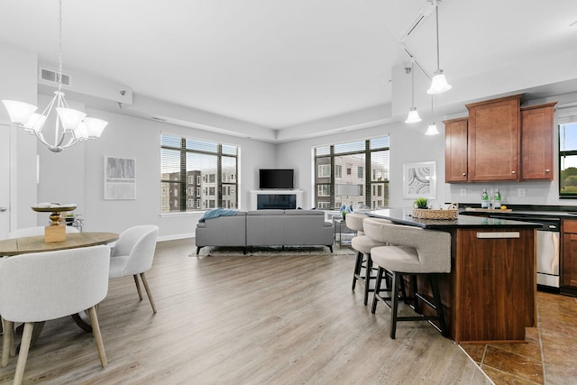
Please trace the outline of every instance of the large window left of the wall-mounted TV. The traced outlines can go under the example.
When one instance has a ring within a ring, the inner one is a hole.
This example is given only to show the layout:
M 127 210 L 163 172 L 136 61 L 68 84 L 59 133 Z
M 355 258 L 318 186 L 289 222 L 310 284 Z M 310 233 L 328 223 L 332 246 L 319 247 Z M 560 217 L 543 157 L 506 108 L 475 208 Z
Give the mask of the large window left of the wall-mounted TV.
M 223 205 L 237 207 L 237 147 L 162 133 L 160 172 L 161 213 L 195 211 Z M 190 187 L 191 184 L 196 188 Z M 212 186 L 208 188 L 207 184 Z M 220 193 L 224 186 L 231 188 L 231 194 L 225 199 Z M 215 199 L 203 200 L 201 207 L 201 191 L 205 197 L 210 192 Z

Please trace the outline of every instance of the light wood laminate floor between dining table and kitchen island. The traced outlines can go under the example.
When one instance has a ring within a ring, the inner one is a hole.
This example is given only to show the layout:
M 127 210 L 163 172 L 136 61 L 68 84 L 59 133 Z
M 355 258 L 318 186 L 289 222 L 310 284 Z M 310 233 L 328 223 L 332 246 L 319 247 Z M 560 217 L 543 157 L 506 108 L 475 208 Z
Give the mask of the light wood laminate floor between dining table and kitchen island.
M 46 323 L 24 383 L 484 384 L 490 380 L 426 323 L 371 315 L 351 291 L 354 255 L 190 257 L 194 240 L 158 243 L 147 278 L 111 280 L 98 309 L 108 366 L 71 318 Z M 14 377 L 15 357 L 0 369 Z

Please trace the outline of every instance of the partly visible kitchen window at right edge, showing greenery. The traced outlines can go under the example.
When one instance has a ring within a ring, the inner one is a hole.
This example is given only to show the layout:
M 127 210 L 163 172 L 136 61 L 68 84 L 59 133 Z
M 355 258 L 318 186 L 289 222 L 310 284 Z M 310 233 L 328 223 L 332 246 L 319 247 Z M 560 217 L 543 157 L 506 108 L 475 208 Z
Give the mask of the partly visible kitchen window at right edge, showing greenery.
M 577 198 L 577 123 L 559 125 L 559 197 Z

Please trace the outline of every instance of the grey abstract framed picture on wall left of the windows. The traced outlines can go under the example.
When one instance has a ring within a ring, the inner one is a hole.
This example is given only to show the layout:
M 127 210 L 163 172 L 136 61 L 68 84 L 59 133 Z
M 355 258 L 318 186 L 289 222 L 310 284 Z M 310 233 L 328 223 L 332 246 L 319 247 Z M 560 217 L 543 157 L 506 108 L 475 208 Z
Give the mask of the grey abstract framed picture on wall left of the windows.
M 105 199 L 136 199 L 136 160 L 105 156 Z

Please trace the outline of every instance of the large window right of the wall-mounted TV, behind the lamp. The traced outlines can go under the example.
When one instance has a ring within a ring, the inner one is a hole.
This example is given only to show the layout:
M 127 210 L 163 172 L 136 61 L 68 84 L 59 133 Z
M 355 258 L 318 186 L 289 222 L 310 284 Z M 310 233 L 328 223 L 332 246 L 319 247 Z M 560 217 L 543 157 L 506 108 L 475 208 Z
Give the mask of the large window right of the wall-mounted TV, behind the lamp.
M 314 161 L 316 207 L 389 205 L 389 136 L 316 147 Z

